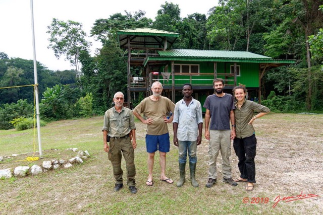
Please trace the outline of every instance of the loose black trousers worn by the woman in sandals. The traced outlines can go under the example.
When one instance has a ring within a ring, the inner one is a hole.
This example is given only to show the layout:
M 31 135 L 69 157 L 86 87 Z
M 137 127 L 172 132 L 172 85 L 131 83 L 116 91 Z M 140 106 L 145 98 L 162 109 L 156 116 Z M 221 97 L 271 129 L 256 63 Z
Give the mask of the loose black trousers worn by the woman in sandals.
M 234 138 L 233 148 L 239 159 L 240 177 L 247 179 L 250 183 L 256 183 L 254 158 L 256 157 L 257 139 L 255 134 L 245 138 Z

